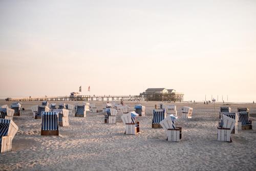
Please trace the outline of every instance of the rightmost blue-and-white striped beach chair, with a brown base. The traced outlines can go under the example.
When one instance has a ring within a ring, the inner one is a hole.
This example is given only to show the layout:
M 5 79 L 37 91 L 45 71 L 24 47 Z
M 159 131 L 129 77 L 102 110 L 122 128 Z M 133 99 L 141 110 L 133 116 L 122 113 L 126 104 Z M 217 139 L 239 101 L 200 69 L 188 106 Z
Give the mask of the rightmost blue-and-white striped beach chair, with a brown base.
M 252 121 L 249 120 L 249 112 L 238 113 L 238 130 L 252 130 Z

